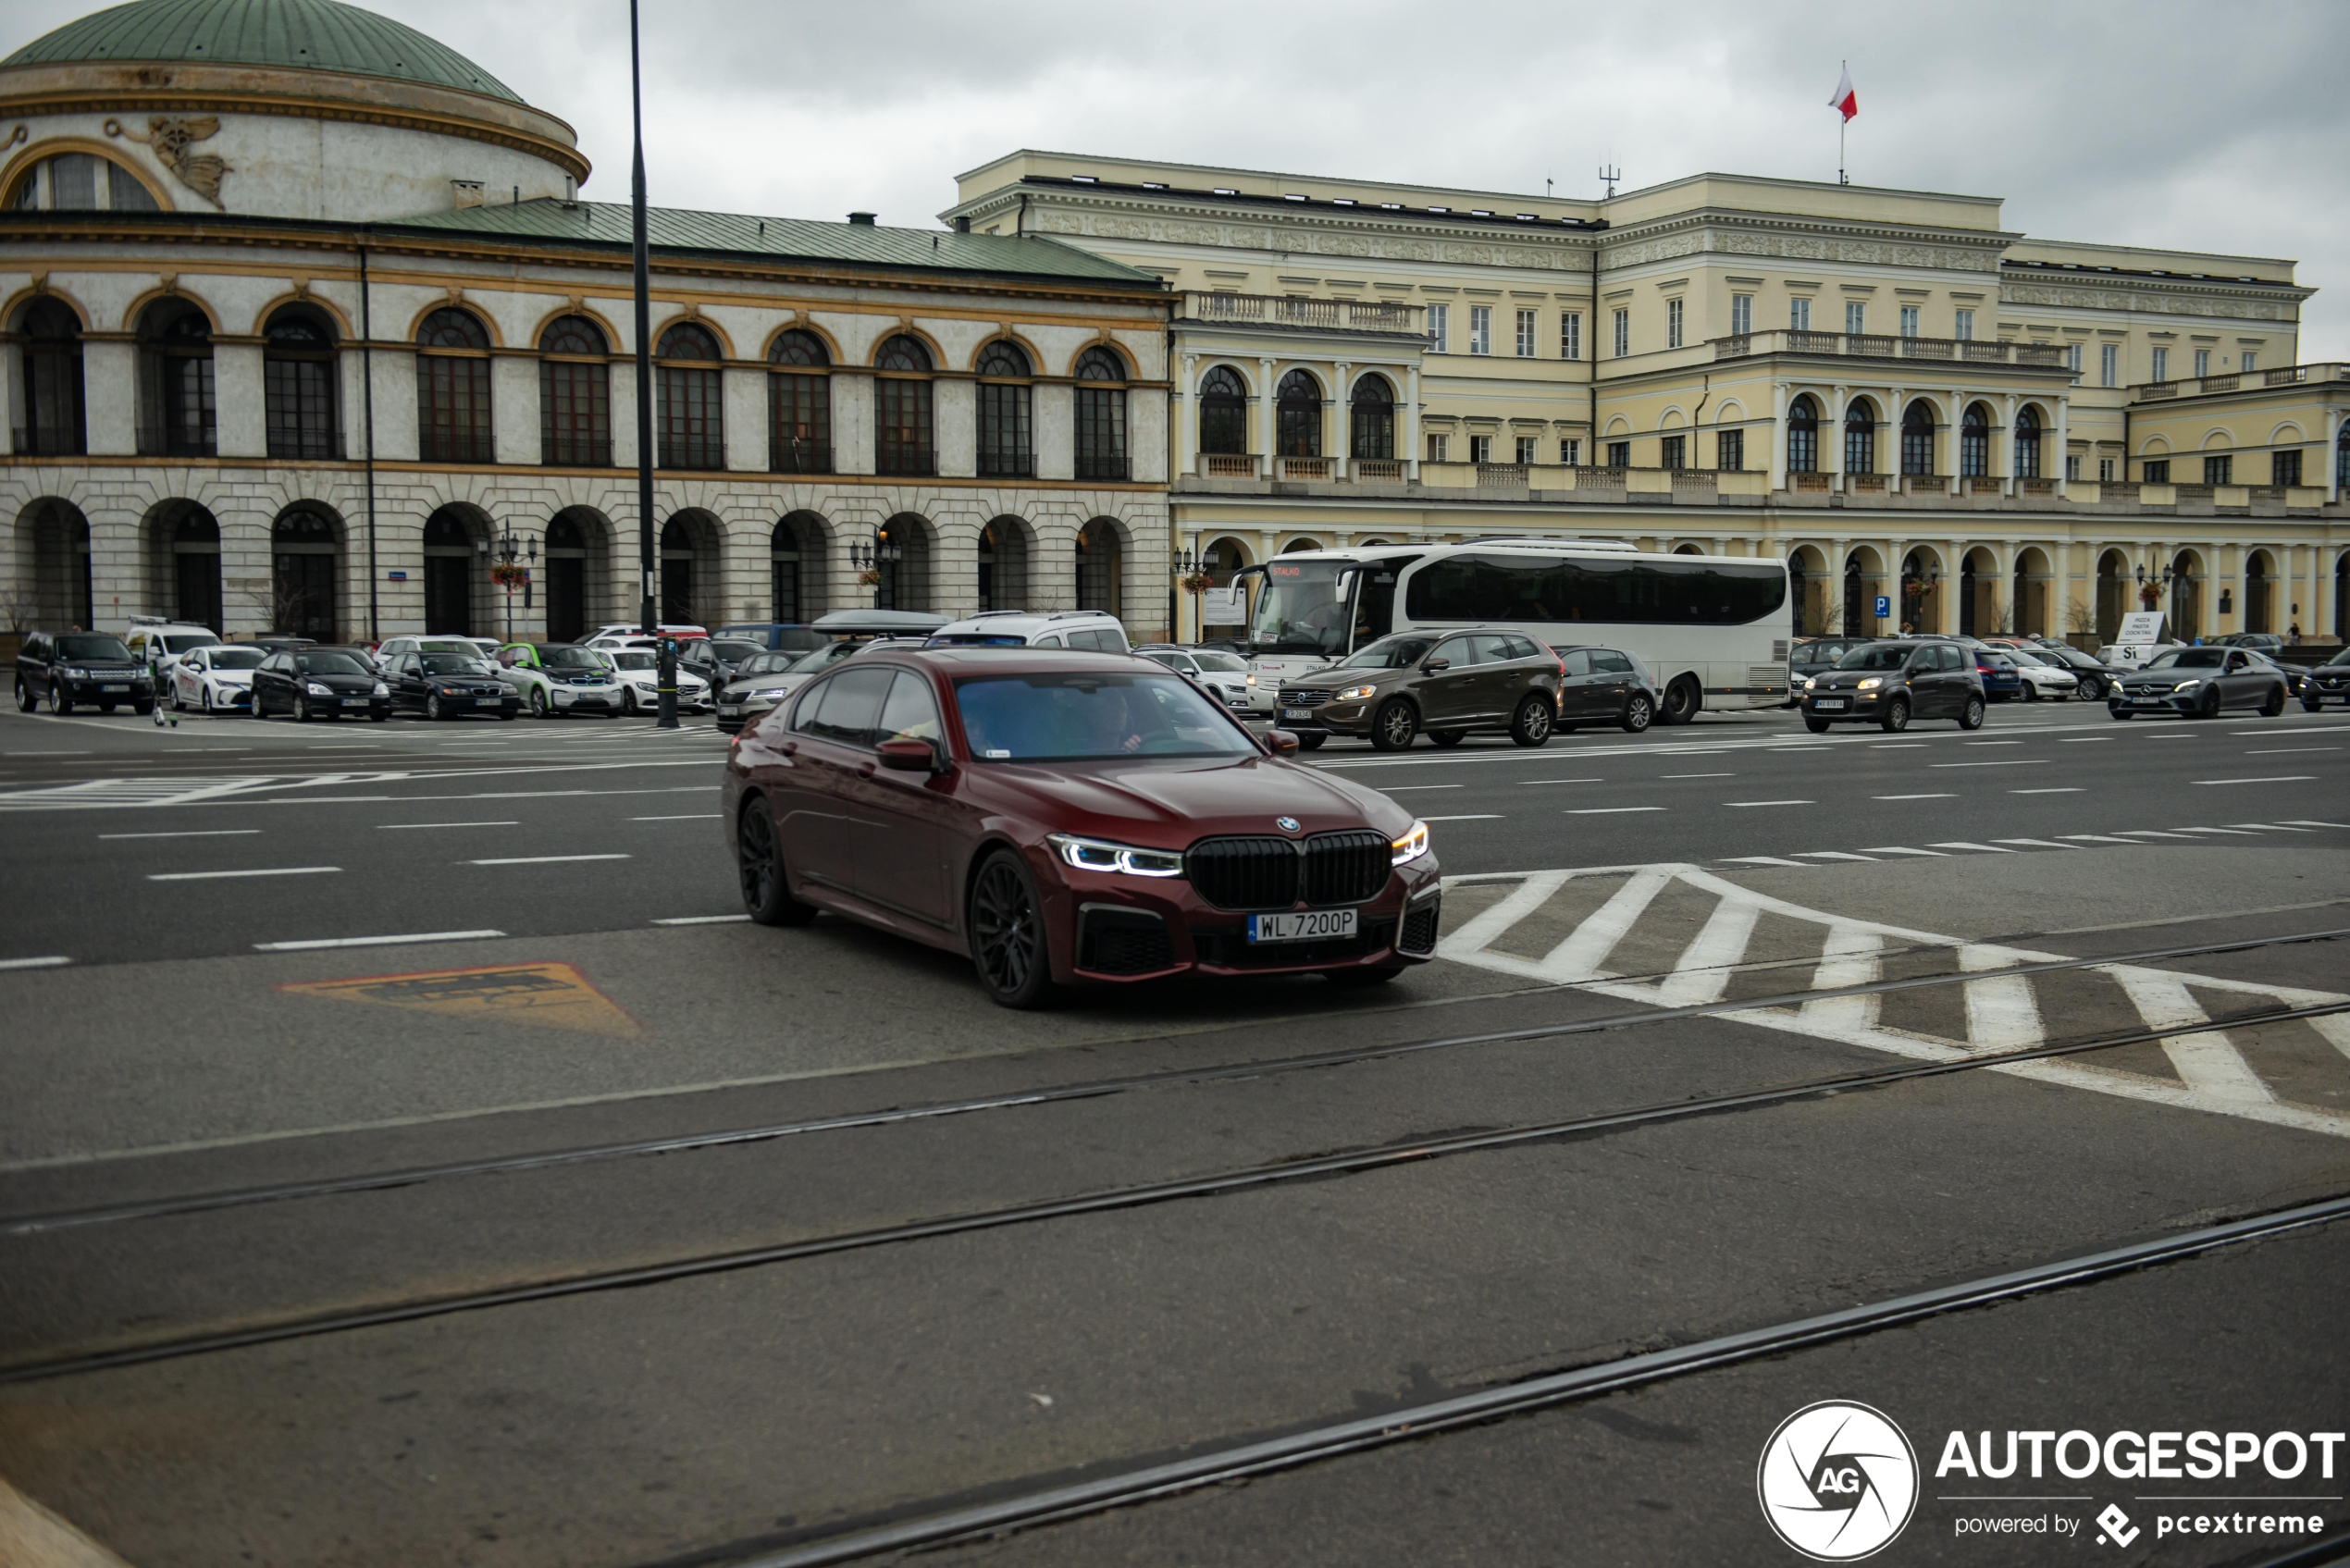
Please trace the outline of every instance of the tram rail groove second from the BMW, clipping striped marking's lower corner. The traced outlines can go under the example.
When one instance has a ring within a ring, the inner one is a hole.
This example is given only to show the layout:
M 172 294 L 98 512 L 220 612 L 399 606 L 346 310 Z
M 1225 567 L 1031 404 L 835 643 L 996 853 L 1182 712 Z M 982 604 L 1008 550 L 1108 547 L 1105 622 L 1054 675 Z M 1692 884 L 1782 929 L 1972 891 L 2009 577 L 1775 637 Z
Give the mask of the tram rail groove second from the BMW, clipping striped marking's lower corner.
M 2225 1020 L 2225 1025 L 2221 1027 L 2258 1027 L 2270 1023 L 2294 1023 L 2303 1018 L 2329 1018 L 2338 1013 L 2350 1013 L 2350 1001 L 2270 1009 L 2261 1013 L 2235 1016 Z M 1060 1199 L 1032 1199 L 1020 1204 L 999 1204 L 989 1208 L 933 1215 L 926 1220 L 905 1220 L 895 1225 L 846 1229 L 846 1232 L 834 1232 L 830 1237 L 808 1237 L 801 1241 L 780 1241 L 771 1246 L 731 1248 L 719 1253 L 696 1253 L 686 1258 L 672 1258 L 667 1262 L 632 1265 L 623 1269 L 590 1269 L 580 1274 L 559 1274 L 512 1286 L 496 1286 L 486 1291 L 461 1291 L 446 1295 L 425 1295 L 425 1298 L 383 1302 L 378 1307 L 352 1307 L 338 1312 L 320 1312 L 313 1316 L 291 1316 L 291 1319 L 280 1319 L 275 1324 L 256 1324 L 251 1328 L 195 1333 L 167 1340 L 150 1340 L 146 1345 L 120 1345 L 113 1349 L 82 1352 L 54 1359 L 14 1361 L 14 1363 L 0 1363 L 0 1387 L 113 1371 L 122 1366 L 143 1366 L 153 1361 L 176 1361 L 186 1356 L 219 1354 L 228 1349 L 249 1349 L 256 1345 L 277 1345 L 287 1340 L 306 1340 L 329 1333 L 352 1333 L 360 1328 L 383 1328 L 390 1324 L 411 1324 L 435 1316 L 451 1316 L 461 1312 L 484 1312 L 494 1307 L 515 1307 L 524 1302 L 597 1295 L 604 1291 L 660 1286 L 682 1279 L 731 1274 L 738 1269 L 799 1262 L 806 1258 L 825 1258 L 834 1253 L 895 1246 L 905 1241 L 926 1241 L 935 1237 L 1006 1229 L 1013 1225 L 1065 1220 L 1088 1213 L 1147 1208 L 1154 1204 L 1168 1204 L 1182 1199 L 1224 1197 L 1231 1192 L 1264 1190 L 1302 1180 L 1323 1180 L 1332 1175 L 1361 1175 L 1368 1171 L 1424 1164 L 1431 1159 L 1448 1159 L 1452 1154 L 1509 1150 L 1509 1147 L 1525 1147 L 1535 1143 L 1551 1143 L 1567 1138 L 1596 1138 L 1629 1128 L 1690 1121 L 1699 1117 L 1741 1114 L 1751 1110 L 1793 1105 L 1800 1100 L 1821 1100 L 1845 1093 L 1892 1088 L 1918 1079 L 1979 1072 L 1983 1067 L 2007 1067 L 2007 1065 L 2040 1063 L 2063 1056 L 2082 1056 L 2092 1051 L 2113 1051 L 2120 1046 L 2150 1044 L 2176 1037 L 2178 1032 L 2181 1030 L 2176 1025 L 2141 1027 L 2117 1034 L 2096 1034 L 2087 1039 L 2042 1044 L 2019 1051 L 1986 1051 L 1981 1056 L 1922 1060 L 1922 1063 L 1913 1060 L 1894 1067 L 1878 1067 L 1871 1072 L 1802 1079 L 1774 1088 L 1748 1088 L 1720 1095 L 1697 1095 L 1690 1100 L 1668 1100 L 1617 1112 L 1567 1117 L 1558 1121 L 1528 1121 L 1502 1128 L 1480 1128 L 1471 1133 L 1379 1143 L 1358 1150 L 1316 1154 L 1307 1159 L 1264 1161 L 1253 1166 L 1213 1171 L 1206 1175 L 1187 1175 L 1161 1182 L 1133 1182 L 1123 1187 L 1104 1187 Z M 2343 1201 L 2350 1204 L 2350 1199 Z

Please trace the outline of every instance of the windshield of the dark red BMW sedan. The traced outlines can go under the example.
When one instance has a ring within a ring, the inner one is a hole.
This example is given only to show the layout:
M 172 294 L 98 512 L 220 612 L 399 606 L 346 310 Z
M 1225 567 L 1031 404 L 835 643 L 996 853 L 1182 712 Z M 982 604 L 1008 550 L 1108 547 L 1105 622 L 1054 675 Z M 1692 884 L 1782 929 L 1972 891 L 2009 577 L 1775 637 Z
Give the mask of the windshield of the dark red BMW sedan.
M 954 682 L 954 703 L 980 762 L 1255 755 L 1180 675 L 985 675 Z

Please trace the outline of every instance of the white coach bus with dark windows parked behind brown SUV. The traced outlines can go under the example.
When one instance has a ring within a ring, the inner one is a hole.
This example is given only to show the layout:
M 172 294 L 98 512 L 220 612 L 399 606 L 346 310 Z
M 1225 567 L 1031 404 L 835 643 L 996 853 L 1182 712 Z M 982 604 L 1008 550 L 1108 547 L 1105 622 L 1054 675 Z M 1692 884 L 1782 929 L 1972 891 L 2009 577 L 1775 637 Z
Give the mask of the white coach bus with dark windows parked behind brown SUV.
M 1659 724 L 1687 724 L 1708 705 L 1777 708 L 1788 693 L 1786 562 L 1643 555 L 1596 538 L 1473 538 L 1300 550 L 1238 576 L 1257 578 L 1253 712 L 1271 712 L 1285 679 L 1389 632 L 1464 625 L 1633 654 L 1657 677 Z

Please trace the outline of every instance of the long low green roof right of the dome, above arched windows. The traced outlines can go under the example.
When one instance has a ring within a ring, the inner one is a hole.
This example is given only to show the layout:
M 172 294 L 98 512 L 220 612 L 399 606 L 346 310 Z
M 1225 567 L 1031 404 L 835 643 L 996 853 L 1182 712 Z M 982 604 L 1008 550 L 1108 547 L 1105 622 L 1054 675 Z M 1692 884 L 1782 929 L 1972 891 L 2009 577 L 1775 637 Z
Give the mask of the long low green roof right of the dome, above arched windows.
M 630 244 L 630 209 L 618 202 L 552 197 L 428 212 L 395 219 L 383 228 L 437 228 L 484 240 L 555 240 L 573 244 Z M 759 219 L 738 212 L 689 212 L 651 207 L 644 235 L 653 249 L 721 252 L 799 261 L 846 261 L 886 268 L 935 268 L 942 273 L 999 273 L 1010 277 L 1090 277 L 1100 282 L 1159 284 L 1152 273 L 1095 256 L 1043 235 L 956 235 L 942 228 L 881 228 L 879 223 L 815 223 L 811 219 Z

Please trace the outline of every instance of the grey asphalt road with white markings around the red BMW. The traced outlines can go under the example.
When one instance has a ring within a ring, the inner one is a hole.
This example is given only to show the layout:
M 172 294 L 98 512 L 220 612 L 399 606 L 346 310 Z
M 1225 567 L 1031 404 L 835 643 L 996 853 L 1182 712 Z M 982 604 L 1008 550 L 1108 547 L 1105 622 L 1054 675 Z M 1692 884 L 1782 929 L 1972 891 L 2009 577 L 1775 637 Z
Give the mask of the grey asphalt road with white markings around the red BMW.
M 707 729 L 0 715 L 0 957 L 54 959 L 0 973 L 0 1481 L 141 1568 L 743 1563 L 2343 1197 L 2345 733 L 2014 705 L 1330 745 L 1436 825 L 1436 964 L 1013 1016 L 949 954 L 724 919 Z M 625 858 L 555 858 L 590 853 Z M 282 947 L 385 936 L 439 940 Z M 611 1147 L 644 1140 L 684 1143 Z M 2232 1486 L 1936 1460 L 2350 1429 L 2345 1248 L 942 1561 L 1793 1563 L 1758 1460 L 1821 1399 L 1918 1450 L 1871 1561 L 2261 1561 L 2298 1537 L 2157 1516 L 2343 1528 L 2350 1448 Z M 2052 1528 L 1960 1526 L 2007 1516 Z

